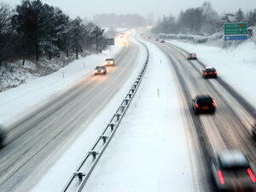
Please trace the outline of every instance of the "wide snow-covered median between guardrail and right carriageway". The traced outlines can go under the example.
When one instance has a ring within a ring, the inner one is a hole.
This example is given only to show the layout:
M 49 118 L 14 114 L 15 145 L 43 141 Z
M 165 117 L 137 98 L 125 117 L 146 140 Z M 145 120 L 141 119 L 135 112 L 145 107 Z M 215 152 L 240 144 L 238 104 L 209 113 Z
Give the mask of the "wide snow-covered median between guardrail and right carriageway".
M 143 83 L 83 191 L 193 191 L 176 79 L 166 56 L 148 48 Z

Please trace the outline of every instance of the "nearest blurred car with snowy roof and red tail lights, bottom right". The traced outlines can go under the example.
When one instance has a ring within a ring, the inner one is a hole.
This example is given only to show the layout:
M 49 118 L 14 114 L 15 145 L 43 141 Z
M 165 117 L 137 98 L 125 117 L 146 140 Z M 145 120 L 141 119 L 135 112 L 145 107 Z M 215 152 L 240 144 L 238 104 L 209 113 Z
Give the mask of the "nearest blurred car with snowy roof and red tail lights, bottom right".
M 218 191 L 253 191 L 256 177 L 245 154 L 224 150 L 212 159 L 212 177 Z

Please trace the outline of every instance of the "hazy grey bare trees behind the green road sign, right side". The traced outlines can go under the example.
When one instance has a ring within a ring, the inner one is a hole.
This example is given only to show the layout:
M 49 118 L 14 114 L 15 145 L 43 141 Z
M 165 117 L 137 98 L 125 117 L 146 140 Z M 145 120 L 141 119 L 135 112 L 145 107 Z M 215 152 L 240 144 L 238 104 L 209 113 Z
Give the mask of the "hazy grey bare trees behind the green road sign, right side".
M 238 9 L 235 13 L 218 15 L 212 4 L 205 2 L 201 7 L 181 11 L 177 18 L 164 16 L 152 29 L 154 33 L 212 34 L 222 30 L 226 22 L 247 21 L 248 26 L 256 25 L 256 9 L 247 13 Z

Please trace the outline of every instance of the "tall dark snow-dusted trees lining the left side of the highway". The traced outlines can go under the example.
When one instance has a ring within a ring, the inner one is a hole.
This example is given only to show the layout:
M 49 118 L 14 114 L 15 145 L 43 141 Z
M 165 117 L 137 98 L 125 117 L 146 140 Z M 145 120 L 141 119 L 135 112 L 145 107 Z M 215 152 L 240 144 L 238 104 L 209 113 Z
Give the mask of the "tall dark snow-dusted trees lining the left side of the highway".
M 104 30 L 84 23 L 78 16 L 71 19 L 61 9 L 41 0 L 24 0 L 12 9 L 0 3 L 0 64 L 3 61 L 40 56 L 68 57 L 84 49 L 102 49 Z M 102 47 L 101 47 L 102 46 Z

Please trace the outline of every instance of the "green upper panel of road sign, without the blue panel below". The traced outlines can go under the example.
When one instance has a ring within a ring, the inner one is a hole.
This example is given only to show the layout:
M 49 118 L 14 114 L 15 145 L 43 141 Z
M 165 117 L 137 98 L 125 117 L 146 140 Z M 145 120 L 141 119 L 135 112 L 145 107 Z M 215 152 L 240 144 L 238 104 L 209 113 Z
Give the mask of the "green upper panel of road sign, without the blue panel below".
M 247 23 L 225 23 L 224 35 L 247 35 Z

